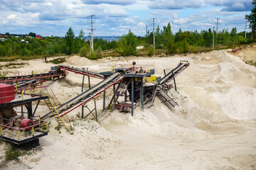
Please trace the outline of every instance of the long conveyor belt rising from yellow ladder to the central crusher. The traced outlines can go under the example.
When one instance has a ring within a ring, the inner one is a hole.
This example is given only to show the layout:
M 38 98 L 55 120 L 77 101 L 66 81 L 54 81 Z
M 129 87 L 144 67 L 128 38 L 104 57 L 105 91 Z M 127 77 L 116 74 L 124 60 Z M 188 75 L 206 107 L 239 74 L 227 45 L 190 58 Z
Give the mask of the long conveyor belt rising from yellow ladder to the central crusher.
M 82 104 L 87 103 L 98 94 L 101 94 L 103 91 L 110 88 L 110 86 L 121 81 L 123 78 L 124 74 L 121 72 L 117 72 L 115 74 L 112 74 L 112 76 L 108 77 L 107 79 L 100 81 L 99 84 L 92 86 L 91 89 L 88 89 L 82 94 L 75 96 L 75 98 L 72 98 L 70 101 L 64 103 L 62 106 L 58 108 L 60 116 L 62 117 L 63 115 L 68 114 L 70 111 L 73 111 L 75 108 L 78 108 Z M 51 115 L 52 113 L 48 113 L 44 115 L 41 119 L 45 120 L 46 118 L 49 118 Z

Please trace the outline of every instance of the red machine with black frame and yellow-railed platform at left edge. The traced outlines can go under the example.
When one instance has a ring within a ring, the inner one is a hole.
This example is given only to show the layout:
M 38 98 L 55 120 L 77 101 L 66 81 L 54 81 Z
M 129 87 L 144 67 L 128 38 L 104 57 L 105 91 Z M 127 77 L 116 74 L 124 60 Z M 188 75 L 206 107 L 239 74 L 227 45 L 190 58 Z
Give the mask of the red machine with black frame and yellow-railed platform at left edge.
M 48 100 L 48 96 L 33 94 L 38 89 L 16 90 L 14 85 L 0 84 L 0 137 L 3 140 L 22 145 L 48 135 L 48 123 L 35 115 L 39 102 Z M 36 108 L 33 109 L 32 103 L 37 103 Z

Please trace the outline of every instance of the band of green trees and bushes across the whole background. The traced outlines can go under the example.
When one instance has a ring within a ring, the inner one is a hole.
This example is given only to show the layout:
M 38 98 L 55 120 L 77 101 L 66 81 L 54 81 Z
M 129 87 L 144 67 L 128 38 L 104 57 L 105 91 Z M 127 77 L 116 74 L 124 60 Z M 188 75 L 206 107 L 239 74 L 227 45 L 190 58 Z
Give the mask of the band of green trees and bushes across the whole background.
M 32 33 L 30 33 L 32 34 Z M 220 47 L 234 47 L 253 42 L 250 40 L 251 33 L 247 33 L 247 38 L 244 38 L 245 32 L 238 33 L 237 28 L 223 29 L 214 32 L 215 45 Z M 23 40 L 23 41 L 21 41 Z M 25 41 L 24 41 L 25 40 Z M 137 55 L 137 46 L 143 45 L 148 50 L 148 55 L 153 55 L 154 49 L 165 50 L 168 55 L 175 53 L 198 52 L 200 47 L 212 47 L 213 45 L 213 30 L 197 30 L 188 31 L 179 29 L 173 33 L 171 24 L 168 23 L 162 29 L 159 26 L 155 32 L 155 47 L 153 47 L 153 33 L 146 33 L 144 38 L 137 38 L 131 30 L 129 33 L 122 35 L 118 41 L 107 41 L 100 39 L 94 40 L 95 51 L 90 52 L 90 42 L 85 40 L 85 33 L 80 30 L 77 36 L 70 27 L 64 38 L 46 37 L 43 40 L 31 38 L 16 38 L 0 41 L 0 57 L 11 56 L 50 56 L 50 55 L 80 55 L 90 59 L 102 57 L 102 51 L 112 50 L 119 55 Z

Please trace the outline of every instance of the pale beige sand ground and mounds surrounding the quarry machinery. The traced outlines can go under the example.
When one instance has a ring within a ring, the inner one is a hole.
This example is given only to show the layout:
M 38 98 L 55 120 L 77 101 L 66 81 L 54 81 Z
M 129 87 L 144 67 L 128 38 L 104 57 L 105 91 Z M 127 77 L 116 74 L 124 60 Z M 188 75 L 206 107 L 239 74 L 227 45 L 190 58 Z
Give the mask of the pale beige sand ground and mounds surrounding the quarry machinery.
M 245 52 L 244 52 L 245 54 Z M 117 58 L 90 61 L 70 57 L 74 67 L 97 70 Z M 190 66 L 178 77 L 178 91 L 169 95 L 178 105 L 170 111 L 156 98 L 154 106 L 130 113 L 99 114 L 99 121 L 77 118 L 80 108 L 69 113 L 73 134 L 55 130 L 41 137 L 41 149 L 11 161 L 0 169 L 256 169 L 256 68 L 228 50 L 173 57 L 129 57 L 120 60 L 153 64 L 157 76 L 173 69 L 180 60 Z M 53 64 L 29 61 L 27 67 L 9 74 L 41 72 Z M 92 79 L 92 84 L 99 80 Z M 82 76 L 69 73 L 50 82 L 61 102 L 80 94 Z M 91 103 L 92 104 L 92 103 Z M 102 108 L 102 98 L 97 98 Z M 38 114 L 48 113 L 46 106 Z M 4 157 L 5 145 L 0 145 Z

